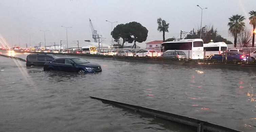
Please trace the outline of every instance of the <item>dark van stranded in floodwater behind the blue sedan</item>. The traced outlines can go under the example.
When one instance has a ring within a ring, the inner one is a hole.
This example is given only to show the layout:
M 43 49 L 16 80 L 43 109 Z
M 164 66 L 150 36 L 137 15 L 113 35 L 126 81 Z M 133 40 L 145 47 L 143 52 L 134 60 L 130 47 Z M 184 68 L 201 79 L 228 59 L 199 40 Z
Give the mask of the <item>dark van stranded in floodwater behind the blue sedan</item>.
M 29 54 L 26 59 L 26 66 L 44 66 L 45 62 L 57 58 L 58 57 L 53 54 Z

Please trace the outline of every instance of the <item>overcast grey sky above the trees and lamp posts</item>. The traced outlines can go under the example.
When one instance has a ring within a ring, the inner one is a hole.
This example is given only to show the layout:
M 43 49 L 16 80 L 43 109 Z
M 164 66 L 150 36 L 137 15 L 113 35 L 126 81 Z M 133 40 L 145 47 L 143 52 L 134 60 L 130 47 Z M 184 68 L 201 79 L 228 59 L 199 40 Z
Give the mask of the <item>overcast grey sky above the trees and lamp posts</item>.
M 38 45 L 44 42 L 43 32 L 46 32 L 46 45 L 60 43 L 66 40 L 68 28 L 68 43 L 72 41 L 92 41 L 92 31 L 89 18 L 92 19 L 99 35 L 106 39 L 104 43 L 111 43 L 111 23 L 113 28 L 120 23 L 136 21 L 149 30 L 147 40 L 138 45 L 145 47 L 146 42 L 162 40 L 162 32 L 157 31 L 157 18 L 161 17 L 170 23 L 169 33 L 165 38 L 179 38 L 180 30 L 190 31 L 200 28 L 201 9 L 203 10 L 202 25 L 214 25 L 222 37 L 233 42 L 228 35 L 228 18 L 235 14 L 245 16 L 247 29 L 250 10 L 256 10 L 255 0 L 0 0 L 0 35 L 10 46 L 25 47 L 29 43 Z M 28 34 L 26 34 L 28 33 Z M 72 44 L 73 43 L 73 44 Z M 131 44 L 130 44 L 131 45 Z

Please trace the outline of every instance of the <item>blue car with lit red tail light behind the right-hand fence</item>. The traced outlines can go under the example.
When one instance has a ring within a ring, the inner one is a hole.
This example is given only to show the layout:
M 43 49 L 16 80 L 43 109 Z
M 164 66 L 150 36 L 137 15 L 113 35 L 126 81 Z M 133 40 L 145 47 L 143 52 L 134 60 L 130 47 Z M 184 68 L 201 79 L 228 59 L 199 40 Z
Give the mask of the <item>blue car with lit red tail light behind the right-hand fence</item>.
M 224 53 L 214 55 L 210 59 L 211 60 L 222 60 L 222 56 L 224 57 L 223 59 L 225 60 L 226 55 Z M 227 60 L 228 61 L 232 61 L 232 60 L 249 61 L 249 59 L 250 59 L 250 61 L 252 61 L 252 58 L 249 58 L 249 54 L 238 53 L 237 51 L 228 51 L 227 52 Z

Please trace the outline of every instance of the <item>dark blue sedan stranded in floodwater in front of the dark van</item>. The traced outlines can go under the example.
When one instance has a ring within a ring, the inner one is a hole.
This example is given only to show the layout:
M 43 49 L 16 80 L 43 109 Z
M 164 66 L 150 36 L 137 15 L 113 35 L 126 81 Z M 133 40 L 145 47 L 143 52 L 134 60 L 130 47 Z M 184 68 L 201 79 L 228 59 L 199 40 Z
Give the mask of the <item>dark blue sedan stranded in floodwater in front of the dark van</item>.
M 102 71 L 97 63 L 88 62 L 82 58 L 58 58 L 44 64 L 44 71 L 68 71 L 81 74 Z

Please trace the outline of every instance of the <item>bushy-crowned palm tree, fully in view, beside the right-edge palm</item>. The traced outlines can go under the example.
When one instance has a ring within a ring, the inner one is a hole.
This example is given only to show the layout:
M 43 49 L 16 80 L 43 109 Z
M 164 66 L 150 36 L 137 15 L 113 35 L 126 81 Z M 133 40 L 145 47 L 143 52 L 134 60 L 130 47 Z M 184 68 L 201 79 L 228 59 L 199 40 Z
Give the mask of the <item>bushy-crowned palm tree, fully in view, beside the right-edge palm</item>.
M 233 15 L 232 17 L 229 18 L 229 31 L 231 35 L 234 37 L 234 47 L 236 47 L 236 42 L 237 42 L 237 35 L 244 30 L 244 16 L 242 15 Z

